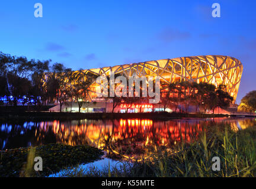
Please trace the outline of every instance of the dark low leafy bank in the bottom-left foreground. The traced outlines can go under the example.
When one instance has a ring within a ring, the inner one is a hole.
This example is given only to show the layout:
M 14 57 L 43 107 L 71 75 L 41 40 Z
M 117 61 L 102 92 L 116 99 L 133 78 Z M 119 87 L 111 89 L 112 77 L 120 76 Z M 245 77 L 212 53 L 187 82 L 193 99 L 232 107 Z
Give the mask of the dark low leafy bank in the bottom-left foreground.
M 103 152 L 91 146 L 48 144 L 0 151 L 0 177 L 44 177 L 65 167 L 93 162 Z M 34 171 L 34 157 L 43 159 L 43 171 Z

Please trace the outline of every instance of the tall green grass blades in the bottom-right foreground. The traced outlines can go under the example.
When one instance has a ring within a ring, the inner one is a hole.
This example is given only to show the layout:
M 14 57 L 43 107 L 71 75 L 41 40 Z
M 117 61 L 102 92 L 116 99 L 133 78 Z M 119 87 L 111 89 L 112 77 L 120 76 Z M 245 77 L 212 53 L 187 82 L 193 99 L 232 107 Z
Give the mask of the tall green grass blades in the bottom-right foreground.
M 210 126 L 199 140 L 180 142 L 174 154 L 156 151 L 148 159 L 133 164 L 120 163 L 97 170 L 92 167 L 66 170 L 63 177 L 255 177 L 256 126 L 232 131 L 231 126 Z M 213 171 L 213 157 L 220 158 L 220 171 Z

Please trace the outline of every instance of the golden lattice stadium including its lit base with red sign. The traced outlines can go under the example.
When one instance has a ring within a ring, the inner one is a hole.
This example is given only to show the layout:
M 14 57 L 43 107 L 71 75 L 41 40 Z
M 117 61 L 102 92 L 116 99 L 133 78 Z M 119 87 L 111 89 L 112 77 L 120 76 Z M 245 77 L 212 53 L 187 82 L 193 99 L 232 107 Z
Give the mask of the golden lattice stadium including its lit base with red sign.
M 103 67 L 98 69 L 78 70 L 72 71 L 72 76 L 77 78 L 76 82 L 82 82 L 88 74 L 97 76 L 110 76 L 110 73 L 114 73 L 118 76 L 145 76 L 156 77 L 161 80 L 161 84 L 169 84 L 181 81 L 190 82 L 206 82 L 214 84 L 216 87 L 220 85 L 225 86 L 226 92 L 233 97 L 233 103 L 235 103 L 236 96 L 238 94 L 239 84 L 241 82 L 243 66 L 241 61 L 229 56 L 191 56 L 191 57 L 179 57 L 162 60 L 145 61 L 141 63 L 123 64 L 113 67 Z M 47 82 L 47 77 L 50 74 L 47 73 L 44 77 L 44 82 Z M 62 77 L 66 77 L 63 73 Z M 68 79 L 66 79 L 68 83 Z M 92 83 L 89 87 L 89 93 L 87 94 L 85 103 L 81 112 L 110 112 L 112 109 L 111 100 L 105 100 L 104 98 L 98 98 L 96 95 L 97 83 Z M 71 100 L 69 100 L 71 101 Z M 144 102 L 145 103 L 145 102 Z M 140 103 L 132 103 L 130 105 L 120 105 L 114 112 L 138 112 L 137 107 L 141 107 Z M 145 107 L 146 105 L 146 107 Z M 161 111 L 162 105 L 152 106 L 145 104 L 143 112 Z M 126 107 L 125 109 L 123 107 Z M 129 108 L 127 108 L 129 106 Z M 59 110 L 59 106 L 52 107 L 52 111 Z M 63 111 L 77 112 L 78 105 L 73 102 L 71 107 L 70 103 L 65 103 Z M 168 109 L 172 112 L 171 109 Z

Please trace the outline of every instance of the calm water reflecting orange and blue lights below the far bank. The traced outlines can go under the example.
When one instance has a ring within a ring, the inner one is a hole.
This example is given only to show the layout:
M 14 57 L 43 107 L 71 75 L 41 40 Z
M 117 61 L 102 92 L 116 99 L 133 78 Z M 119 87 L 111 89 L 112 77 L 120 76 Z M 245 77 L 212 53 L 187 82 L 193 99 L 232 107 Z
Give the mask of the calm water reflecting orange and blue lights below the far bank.
M 227 122 L 234 130 L 256 126 L 255 118 L 207 118 L 153 121 L 151 119 L 59 120 L 0 123 L 0 148 L 10 149 L 49 143 L 88 144 L 112 157 L 134 158 L 159 147 L 167 150 L 181 139 L 197 140 L 213 123 Z

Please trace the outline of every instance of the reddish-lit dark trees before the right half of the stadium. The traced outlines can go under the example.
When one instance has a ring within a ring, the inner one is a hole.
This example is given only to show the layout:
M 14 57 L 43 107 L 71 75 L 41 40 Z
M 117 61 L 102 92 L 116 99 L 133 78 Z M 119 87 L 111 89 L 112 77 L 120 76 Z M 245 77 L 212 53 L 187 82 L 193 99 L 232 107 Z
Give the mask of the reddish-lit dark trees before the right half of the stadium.
M 162 85 L 161 103 L 164 109 L 169 106 L 175 107 L 175 112 L 179 106 L 184 106 L 185 112 L 188 112 L 188 107 L 195 106 L 196 113 L 203 110 L 214 110 L 216 107 L 226 108 L 231 105 L 233 97 L 225 91 L 225 86 L 216 87 L 209 83 L 196 82 L 176 82 L 167 85 Z

